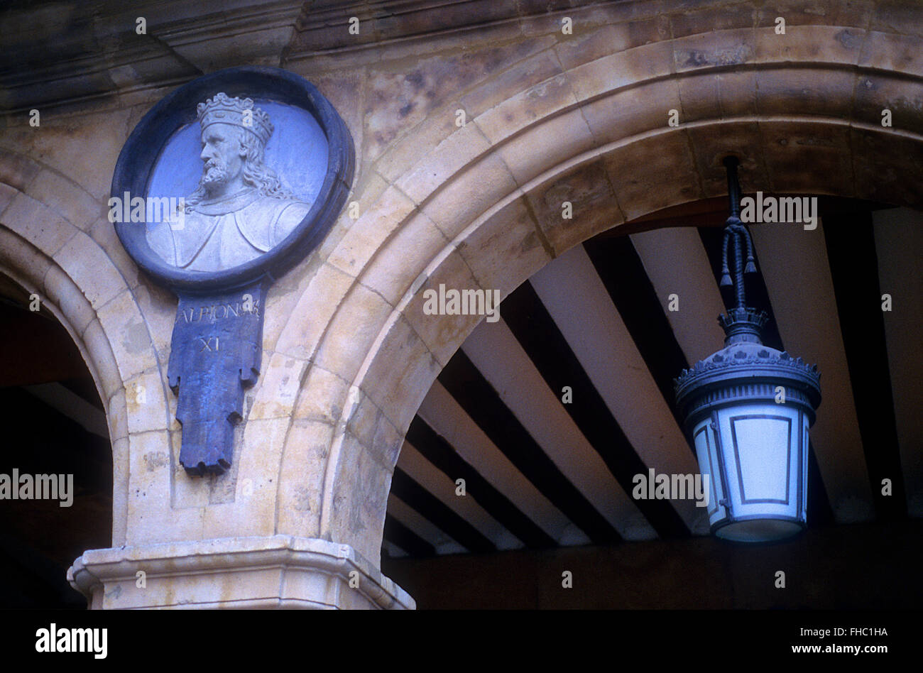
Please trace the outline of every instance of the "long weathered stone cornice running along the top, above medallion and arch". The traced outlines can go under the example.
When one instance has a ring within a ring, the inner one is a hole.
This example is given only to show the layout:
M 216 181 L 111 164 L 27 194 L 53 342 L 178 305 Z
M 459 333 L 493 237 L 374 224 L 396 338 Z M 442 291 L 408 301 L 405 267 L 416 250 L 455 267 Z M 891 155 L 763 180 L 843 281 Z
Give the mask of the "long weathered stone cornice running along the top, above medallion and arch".
M 572 5 L 570 14 L 600 3 Z M 459 33 L 488 25 L 507 26 L 511 38 L 521 38 L 519 22 L 547 11 L 534 0 L 14 3 L 0 10 L 0 114 L 175 86 L 230 66 L 284 67 L 318 55 L 340 65 L 341 53 L 378 61 L 373 48 L 443 34 L 457 45 Z M 138 17 L 146 20 L 146 34 L 136 32 Z M 348 30 L 352 17 L 362 22 L 358 35 Z M 443 48 L 437 42 L 425 51 Z

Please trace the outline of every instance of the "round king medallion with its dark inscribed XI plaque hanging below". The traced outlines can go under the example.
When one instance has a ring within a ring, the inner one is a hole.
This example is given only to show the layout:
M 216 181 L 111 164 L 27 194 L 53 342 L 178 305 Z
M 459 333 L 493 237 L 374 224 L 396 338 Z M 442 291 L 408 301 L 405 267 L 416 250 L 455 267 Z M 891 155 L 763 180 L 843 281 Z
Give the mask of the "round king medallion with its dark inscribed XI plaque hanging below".
M 222 473 L 259 374 L 266 293 L 330 231 L 352 185 L 340 115 L 292 73 L 240 67 L 158 102 L 119 155 L 110 220 L 179 297 L 168 378 L 180 462 Z

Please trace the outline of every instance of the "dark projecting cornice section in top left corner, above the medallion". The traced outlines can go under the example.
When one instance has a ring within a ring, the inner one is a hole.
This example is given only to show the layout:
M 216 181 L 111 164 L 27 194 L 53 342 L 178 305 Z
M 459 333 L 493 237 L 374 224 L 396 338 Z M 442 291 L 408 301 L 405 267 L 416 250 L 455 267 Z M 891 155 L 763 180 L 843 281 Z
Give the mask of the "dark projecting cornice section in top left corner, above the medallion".
M 227 65 L 278 66 L 300 0 L 156 0 L 0 12 L 0 110 L 23 112 L 158 89 Z M 146 22 L 138 34 L 138 18 Z

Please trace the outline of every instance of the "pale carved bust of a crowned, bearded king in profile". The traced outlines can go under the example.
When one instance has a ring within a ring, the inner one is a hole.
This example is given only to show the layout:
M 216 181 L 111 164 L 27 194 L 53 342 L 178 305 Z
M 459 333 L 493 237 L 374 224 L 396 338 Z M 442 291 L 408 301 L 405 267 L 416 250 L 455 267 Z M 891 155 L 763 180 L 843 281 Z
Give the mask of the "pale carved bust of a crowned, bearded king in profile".
M 204 163 L 198 188 L 185 198 L 182 224 L 151 227 L 147 240 L 176 268 L 225 270 L 282 242 L 311 204 L 294 198 L 264 162 L 273 126 L 251 99 L 217 93 L 197 112 Z

